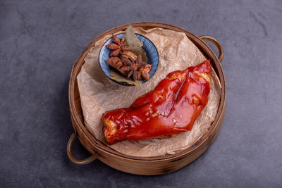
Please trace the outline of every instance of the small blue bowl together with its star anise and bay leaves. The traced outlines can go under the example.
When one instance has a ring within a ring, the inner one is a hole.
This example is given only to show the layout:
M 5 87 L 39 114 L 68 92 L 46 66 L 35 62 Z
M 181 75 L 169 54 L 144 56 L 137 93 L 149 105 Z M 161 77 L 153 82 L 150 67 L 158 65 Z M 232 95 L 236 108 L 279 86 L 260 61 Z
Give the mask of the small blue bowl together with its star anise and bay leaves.
M 124 33 L 112 35 L 99 52 L 99 65 L 110 80 L 127 86 L 147 82 L 159 65 L 156 46 L 129 26 Z

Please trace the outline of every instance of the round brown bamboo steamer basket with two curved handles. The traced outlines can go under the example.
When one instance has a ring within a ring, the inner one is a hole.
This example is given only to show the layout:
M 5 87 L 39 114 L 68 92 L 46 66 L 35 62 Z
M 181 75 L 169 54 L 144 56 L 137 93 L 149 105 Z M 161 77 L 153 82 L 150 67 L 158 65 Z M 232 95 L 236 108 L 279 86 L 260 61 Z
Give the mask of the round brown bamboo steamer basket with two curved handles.
M 111 166 L 112 168 L 116 168 L 117 170 L 121 170 L 125 173 L 132 173 L 137 175 L 159 175 L 164 173 L 170 173 L 180 168 L 183 168 L 185 165 L 188 165 L 196 158 L 198 158 L 206 149 L 208 149 L 212 142 L 214 142 L 214 139 L 216 138 L 217 134 L 219 134 L 219 130 L 223 122 L 226 108 L 226 81 L 221 66 L 221 61 L 223 59 L 223 48 L 221 44 L 213 37 L 197 37 L 191 32 L 188 32 L 188 30 L 184 30 L 183 28 L 177 27 L 175 25 L 152 22 L 130 24 L 133 25 L 133 27 L 142 27 L 145 30 L 153 27 L 161 27 L 176 32 L 184 32 L 185 35 L 187 35 L 187 37 L 197 46 L 197 48 L 202 51 L 202 54 L 204 54 L 206 58 L 209 58 L 211 60 L 212 66 L 216 72 L 216 75 L 219 77 L 219 81 L 221 84 L 221 99 L 216 118 L 212 123 L 211 127 L 209 127 L 209 130 L 195 144 L 190 146 L 188 149 L 180 151 L 180 153 L 166 156 L 127 156 L 123 153 L 119 153 L 118 151 L 114 151 L 113 149 L 109 148 L 109 146 L 106 146 L 105 144 L 97 140 L 95 137 L 93 137 L 92 134 L 85 127 L 85 123 L 83 120 L 82 108 L 80 104 L 80 94 L 78 92 L 78 82 L 76 80 L 76 77 L 78 73 L 80 73 L 85 56 L 90 51 L 92 46 L 95 45 L 95 42 L 97 42 L 99 39 L 102 39 L 105 35 L 111 35 L 115 32 L 125 30 L 129 24 L 120 25 L 102 33 L 96 39 L 90 42 L 90 44 L 88 44 L 88 46 L 85 48 L 78 60 L 75 61 L 73 65 L 69 82 L 68 97 L 74 133 L 71 135 L 67 144 L 68 158 L 70 158 L 73 163 L 79 165 L 91 163 L 95 159 L 99 159 L 103 163 L 106 163 L 107 165 Z M 208 40 L 216 45 L 216 47 L 219 49 L 219 56 L 216 56 L 216 54 L 214 54 L 214 51 L 212 51 L 212 49 L 204 42 L 204 40 Z M 73 156 L 72 146 L 74 140 L 77 137 L 80 140 L 81 144 L 85 146 L 85 148 L 90 151 L 90 153 L 92 153 L 92 156 L 83 160 L 79 160 Z

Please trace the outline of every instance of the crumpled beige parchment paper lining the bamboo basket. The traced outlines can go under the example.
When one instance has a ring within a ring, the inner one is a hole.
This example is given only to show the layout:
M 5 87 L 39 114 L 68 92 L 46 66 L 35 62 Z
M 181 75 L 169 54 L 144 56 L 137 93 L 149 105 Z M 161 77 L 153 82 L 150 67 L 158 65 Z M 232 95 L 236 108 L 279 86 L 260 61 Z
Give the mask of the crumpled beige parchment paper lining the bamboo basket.
M 106 143 L 102 132 L 100 118 L 105 111 L 128 107 L 138 96 L 145 94 L 174 70 L 183 70 L 205 60 L 185 33 L 153 28 L 143 30 L 134 28 L 135 32 L 150 39 L 159 51 L 159 67 L 155 75 L 139 87 L 125 87 L 109 81 L 99 68 L 99 50 L 111 37 L 108 35 L 96 42 L 85 57 L 85 64 L 78 74 L 78 87 L 85 125 L 100 141 Z M 119 33 L 119 32 L 118 32 Z M 145 139 L 140 141 L 123 141 L 109 145 L 112 149 L 130 156 L 164 156 L 173 154 L 192 146 L 212 125 L 219 108 L 220 85 L 212 73 L 209 102 L 194 123 L 192 130 L 183 132 L 169 139 Z

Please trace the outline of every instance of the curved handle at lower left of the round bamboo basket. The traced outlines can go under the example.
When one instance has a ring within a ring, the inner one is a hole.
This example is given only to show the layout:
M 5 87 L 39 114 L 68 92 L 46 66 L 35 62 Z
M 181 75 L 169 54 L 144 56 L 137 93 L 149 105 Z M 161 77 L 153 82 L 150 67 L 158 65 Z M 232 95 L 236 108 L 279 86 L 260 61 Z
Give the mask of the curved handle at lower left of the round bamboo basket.
M 73 142 L 75 141 L 75 139 L 78 137 L 77 134 L 73 133 L 71 134 L 70 139 L 68 139 L 68 144 L 66 145 L 66 153 L 68 153 L 68 158 L 73 161 L 73 163 L 78 164 L 78 165 L 86 165 L 88 163 L 91 163 L 92 161 L 94 161 L 97 157 L 98 154 L 94 153 L 92 156 L 85 158 L 85 159 L 77 159 L 73 156 L 73 152 L 72 152 L 72 147 L 73 147 Z

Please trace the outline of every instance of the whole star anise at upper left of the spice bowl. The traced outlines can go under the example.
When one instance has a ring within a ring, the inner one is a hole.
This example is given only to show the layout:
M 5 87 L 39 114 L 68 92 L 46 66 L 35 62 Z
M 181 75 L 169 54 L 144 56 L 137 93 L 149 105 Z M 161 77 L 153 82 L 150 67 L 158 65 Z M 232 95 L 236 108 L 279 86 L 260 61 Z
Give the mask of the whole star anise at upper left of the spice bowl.
M 113 35 L 113 43 L 107 44 L 106 47 L 111 49 L 110 57 L 116 57 L 123 51 L 130 49 L 130 47 L 126 47 L 124 38 L 118 39 L 116 35 Z

